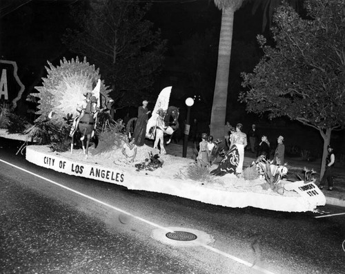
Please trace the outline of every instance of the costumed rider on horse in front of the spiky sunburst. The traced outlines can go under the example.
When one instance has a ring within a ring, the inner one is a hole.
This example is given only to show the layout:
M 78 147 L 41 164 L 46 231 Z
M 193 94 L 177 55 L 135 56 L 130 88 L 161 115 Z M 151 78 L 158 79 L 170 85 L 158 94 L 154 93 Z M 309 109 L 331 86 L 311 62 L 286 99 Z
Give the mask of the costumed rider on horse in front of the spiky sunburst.
M 72 128 L 70 129 L 70 136 L 72 137 L 70 151 L 73 152 L 74 135 L 77 128 L 81 132 L 81 145 L 83 152 L 88 155 L 88 147 L 90 144 L 90 138 L 95 135 L 97 125 L 97 113 L 99 112 L 100 105 L 100 87 L 101 80 L 99 79 L 93 92 L 86 92 L 83 94 L 86 98 L 77 106 L 79 116 L 73 121 Z M 86 146 L 84 145 L 84 139 L 86 137 Z

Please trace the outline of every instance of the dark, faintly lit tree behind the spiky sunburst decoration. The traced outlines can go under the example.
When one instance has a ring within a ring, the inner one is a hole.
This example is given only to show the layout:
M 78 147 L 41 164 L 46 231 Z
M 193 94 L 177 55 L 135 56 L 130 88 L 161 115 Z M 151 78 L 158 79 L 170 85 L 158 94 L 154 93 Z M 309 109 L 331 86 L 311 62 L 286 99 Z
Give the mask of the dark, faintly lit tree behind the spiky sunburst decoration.
M 72 10 L 78 28 L 67 30 L 63 42 L 99 67 L 116 107 L 137 106 L 148 96 L 164 59 L 166 41 L 144 19 L 149 8 L 135 0 L 92 0 Z

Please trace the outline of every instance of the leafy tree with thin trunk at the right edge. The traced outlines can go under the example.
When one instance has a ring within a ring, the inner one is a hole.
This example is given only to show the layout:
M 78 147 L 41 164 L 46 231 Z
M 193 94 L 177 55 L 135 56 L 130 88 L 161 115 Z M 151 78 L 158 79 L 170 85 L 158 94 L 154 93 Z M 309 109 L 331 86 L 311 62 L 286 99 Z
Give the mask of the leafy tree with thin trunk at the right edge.
M 243 73 L 239 100 L 248 112 L 288 116 L 319 131 L 324 140 L 324 174 L 331 132 L 345 125 L 345 1 L 306 1 L 308 19 L 286 3 L 272 28 L 275 47 L 257 36 L 264 56 L 253 73 Z

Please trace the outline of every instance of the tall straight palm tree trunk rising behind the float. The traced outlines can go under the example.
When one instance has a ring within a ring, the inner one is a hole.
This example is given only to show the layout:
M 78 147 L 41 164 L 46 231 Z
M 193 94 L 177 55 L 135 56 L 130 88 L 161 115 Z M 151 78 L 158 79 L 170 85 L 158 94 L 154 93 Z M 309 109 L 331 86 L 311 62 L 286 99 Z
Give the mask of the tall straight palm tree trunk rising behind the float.
M 213 135 L 215 140 L 217 138 L 219 140 L 224 139 L 234 13 L 235 10 L 233 8 L 226 8 L 222 10 L 221 14 L 217 76 L 210 123 L 210 134 Z

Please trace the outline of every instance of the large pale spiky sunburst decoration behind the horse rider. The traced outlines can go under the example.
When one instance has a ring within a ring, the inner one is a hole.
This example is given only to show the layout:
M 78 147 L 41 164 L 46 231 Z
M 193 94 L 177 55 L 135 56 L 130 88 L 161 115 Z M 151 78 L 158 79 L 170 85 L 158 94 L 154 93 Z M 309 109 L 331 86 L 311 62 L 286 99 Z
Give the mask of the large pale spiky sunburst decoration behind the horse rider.
M 86 62 L 86 57 L 83 62 L 80 62 L 78 57 L 74 60 L 67 61 L 63 58 L 60 61 L 60 66 L 54 67 L 48 61 L 49 67 L 46 67 L 48 72 L 47 78 L 43 78 L 43 86 L 35 87 L 39 94 L 31 94 L 39 97 L 39 120 L 46 119 L 50 112 L 54 112 L 54 119 L 56 123 L 66 123 L 68 114 L 73 117 L 77 115 L 77 104 L 83 101 L 83 94 L 92 92 L 97 81 L 101 76 L 99 69 L 95 69 L 95 65 L 90 65 Z M 109 101 L 108 94 L 111 89 L 108 89 L 101 81 L 101 107 Z

